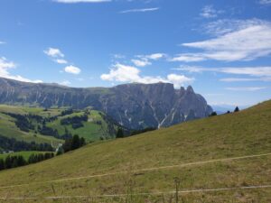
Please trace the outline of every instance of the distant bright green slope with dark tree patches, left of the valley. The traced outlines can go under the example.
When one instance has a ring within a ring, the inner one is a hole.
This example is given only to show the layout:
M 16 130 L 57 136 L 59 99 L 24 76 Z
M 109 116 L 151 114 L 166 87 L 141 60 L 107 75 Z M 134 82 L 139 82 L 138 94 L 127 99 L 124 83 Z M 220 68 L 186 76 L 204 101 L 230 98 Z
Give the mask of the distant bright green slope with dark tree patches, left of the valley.
M 38 107 L 26 107 L 26 106 L 6 106 L 0 105 L 0 134 L 12 137 L 17 140 L 23 140 L 26 142 L 36 142 L 36 143 L 62 143 L 63 141 L 56 139 L 52 136 L 46 136 L 42 134 L 36 134 L 34 132 L 25 133 L 16 127 L 14 124 L 14 118 L 5 115 L 3 113 L 14 113 L 14 114 L 33 114 L 41 116 L 54 116 L 61 115 L 63 108 L 51 108 L 48 111 L 44 111 L 43 108 Z M 1 113 L 2 112 L 2 113 Z M 49 127 L 57 129 L 59 134 L 64 134 L 65 127 L 61 125 L 61 119 L 64 117 L 72 117 L 75 115 L 83 115 L 84 112 L 74 113 L 72 115 L 59 116 L 57 120 L 47 124 Z M 95 122 L 100 121 L 101 125 L 97 125 Z M 100 137 L 107 138 L 109 134 L 107 133 L 107 123 L 98 114 L 98 111 L 91 111 L 89 115 L 89 122 L 84 122 L 84 127 L 78 128 L 76 130 L 72 129 L 71 125 L 66 126 L 71 134 L 79 134 L 79 136 L 84 137 L 87 141 L 95 141 Z

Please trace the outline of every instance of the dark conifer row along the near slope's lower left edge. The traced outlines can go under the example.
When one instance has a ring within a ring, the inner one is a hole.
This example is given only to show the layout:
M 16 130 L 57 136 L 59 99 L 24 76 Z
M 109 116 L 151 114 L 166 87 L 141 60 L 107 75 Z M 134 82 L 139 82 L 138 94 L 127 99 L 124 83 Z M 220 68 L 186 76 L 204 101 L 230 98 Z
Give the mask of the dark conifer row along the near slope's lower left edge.
M 54 157 L 53 152 L 32 154 L 26 161 L 22 155 L 8 155 L 5 159 L 0 159 L 0 171 L 25 166 L 31 163 L 48 160 Z

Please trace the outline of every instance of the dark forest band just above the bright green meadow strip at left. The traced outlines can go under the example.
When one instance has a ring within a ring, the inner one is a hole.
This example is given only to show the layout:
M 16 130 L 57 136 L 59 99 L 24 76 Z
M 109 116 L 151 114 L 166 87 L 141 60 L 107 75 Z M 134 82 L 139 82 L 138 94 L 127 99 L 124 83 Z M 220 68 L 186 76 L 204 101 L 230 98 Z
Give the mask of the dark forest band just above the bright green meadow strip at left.
M 14 152 L 20 151 L 41 151 L 52 152 L 53 148 L 49 143 L 26 143 L 24 141 L 17 141 L 14 138 L 8 138 L 0 134 L 0 148 Z

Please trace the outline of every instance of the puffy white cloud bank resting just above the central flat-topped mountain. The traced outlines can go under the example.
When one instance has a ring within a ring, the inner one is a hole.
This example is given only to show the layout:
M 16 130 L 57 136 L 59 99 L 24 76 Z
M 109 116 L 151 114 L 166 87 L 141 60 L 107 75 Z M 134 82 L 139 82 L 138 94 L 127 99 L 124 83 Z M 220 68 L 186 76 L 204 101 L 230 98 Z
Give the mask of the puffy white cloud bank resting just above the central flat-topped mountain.
M 166 78 L 141 76 L 140 70 L 132 66 L 126 66 L 120 63 L 115 64 L 108 74 L 102 74 L 100 76 L 103 80 L 117 81 L 117 82 L 138 82 L 138 83 L 157 83 L 157 82 L 169 82 L 173 83 L 175 88 L 180 88 L 185 83 L 192 83 L 193 78 L 187 78 L 182 75 L 170 74 Z

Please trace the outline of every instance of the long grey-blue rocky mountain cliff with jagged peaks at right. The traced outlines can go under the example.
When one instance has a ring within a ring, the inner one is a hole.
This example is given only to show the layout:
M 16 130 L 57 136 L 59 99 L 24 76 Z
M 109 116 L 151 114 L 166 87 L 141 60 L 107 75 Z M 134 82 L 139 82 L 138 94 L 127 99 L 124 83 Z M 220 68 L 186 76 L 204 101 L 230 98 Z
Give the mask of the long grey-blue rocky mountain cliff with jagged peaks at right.
M 66 88 L 0 78 L 0 103 L 43 107 L 92 106 L 133 129 L 162 127 L 210 115 L 212 109 L 192 87 L 126 84 L 114 88 Z

